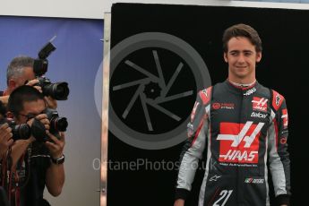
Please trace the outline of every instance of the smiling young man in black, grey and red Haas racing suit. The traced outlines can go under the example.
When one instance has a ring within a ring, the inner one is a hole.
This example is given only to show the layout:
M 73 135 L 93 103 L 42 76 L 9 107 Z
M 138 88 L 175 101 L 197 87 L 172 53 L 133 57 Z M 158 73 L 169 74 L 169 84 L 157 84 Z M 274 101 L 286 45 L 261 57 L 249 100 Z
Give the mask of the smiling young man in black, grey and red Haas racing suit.
M 175 206 L 185 205 L 203 150 L 207 162 L 199 206 L 270 205 L 269 169 L 278 205 L 288 205 L 288 110 L 283 96 L 255 80 L 262 41 L 252 27 L 237 24 L 225 30 L 223 49 L 228 78 L 198 93 Z

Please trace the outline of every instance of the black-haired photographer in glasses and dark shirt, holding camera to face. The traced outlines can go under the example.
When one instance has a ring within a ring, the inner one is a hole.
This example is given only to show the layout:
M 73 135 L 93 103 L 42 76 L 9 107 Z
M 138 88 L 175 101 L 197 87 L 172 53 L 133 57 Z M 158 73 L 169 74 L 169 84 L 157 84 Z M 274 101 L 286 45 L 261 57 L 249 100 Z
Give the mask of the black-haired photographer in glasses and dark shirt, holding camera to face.
M 67 122 L 55 110 L 48 112 L 44 95 L 28 85 L 13 90 L 7 108 L 15 125 L 28 124 L 31 131 L 28 139 L 15 138 L 9 152 L 11 171 L 5 183 L 9 202 L 11 206 L 49 205 L 43 198 L 45 186 L 53 196 L 64 186 L 65 142 L 60 131 L 65 131 Z

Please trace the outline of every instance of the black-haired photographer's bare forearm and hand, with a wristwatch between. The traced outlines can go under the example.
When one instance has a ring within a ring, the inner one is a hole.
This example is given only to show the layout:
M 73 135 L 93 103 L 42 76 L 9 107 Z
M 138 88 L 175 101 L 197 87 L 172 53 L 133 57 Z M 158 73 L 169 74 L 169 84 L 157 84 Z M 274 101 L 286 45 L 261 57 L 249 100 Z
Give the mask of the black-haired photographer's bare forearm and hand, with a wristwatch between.
M 59 159 L 64 155 L 64 133 L 60 133 L 60 138 L 47 132 L 48 136 L 53 142 L 46 142 L 45 145 L 50 151 L 52 159 Z M 62 192 L 64 186 L 64 164 L 51 163 L 51 166 L 47 169 L 46 185 L 48 192 L 53 196 L 58 196 Z

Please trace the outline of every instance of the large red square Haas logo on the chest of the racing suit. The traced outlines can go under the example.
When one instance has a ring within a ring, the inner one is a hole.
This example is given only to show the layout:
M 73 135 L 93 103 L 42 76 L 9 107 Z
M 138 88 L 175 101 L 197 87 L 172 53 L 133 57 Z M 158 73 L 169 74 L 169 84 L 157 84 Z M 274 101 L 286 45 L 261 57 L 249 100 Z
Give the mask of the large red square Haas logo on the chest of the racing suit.
M 219 161 L 237 163 L 258 163 L 259 137 L 264 123 L 245 124 L 221 123 Z

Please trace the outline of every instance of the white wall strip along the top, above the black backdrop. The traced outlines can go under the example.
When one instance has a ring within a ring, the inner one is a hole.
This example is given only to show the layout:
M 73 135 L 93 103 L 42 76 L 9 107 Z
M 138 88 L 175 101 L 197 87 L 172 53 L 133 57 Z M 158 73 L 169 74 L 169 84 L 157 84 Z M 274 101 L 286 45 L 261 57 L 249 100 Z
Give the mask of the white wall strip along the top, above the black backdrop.
M 0 15 L 104 19 L 116 2 L 144 4 L 196 4 L 309 9 L 309 4 L 229 0 L 1 0 Z

